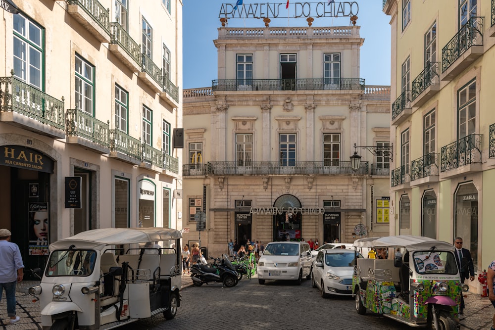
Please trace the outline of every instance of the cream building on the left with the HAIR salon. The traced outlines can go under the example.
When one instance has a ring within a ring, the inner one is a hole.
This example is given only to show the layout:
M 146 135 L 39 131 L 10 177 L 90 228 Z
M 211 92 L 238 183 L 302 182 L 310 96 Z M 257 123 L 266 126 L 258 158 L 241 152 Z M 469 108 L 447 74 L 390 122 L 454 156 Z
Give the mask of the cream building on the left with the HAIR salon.
M 47 238 L 180 229 L 182 2 L 14 2 L 0 11 L 0 227 L 25 266 L 44 265 Z

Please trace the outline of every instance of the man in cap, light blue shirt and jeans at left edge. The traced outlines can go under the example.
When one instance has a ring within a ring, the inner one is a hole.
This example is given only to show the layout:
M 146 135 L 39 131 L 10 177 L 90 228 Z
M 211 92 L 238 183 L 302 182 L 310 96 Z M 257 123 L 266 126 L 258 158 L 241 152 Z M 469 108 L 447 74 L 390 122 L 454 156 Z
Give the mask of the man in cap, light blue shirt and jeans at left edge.
M 10 242 L 11 235 L 8 229 L 0 229 L 0 300 L 5 290 L 7 315 L 10 317 L 10 324 L 14 324 L 20 320 L 15 315 L 15 286 L 22 281 L 24 265 L 19 247 Z

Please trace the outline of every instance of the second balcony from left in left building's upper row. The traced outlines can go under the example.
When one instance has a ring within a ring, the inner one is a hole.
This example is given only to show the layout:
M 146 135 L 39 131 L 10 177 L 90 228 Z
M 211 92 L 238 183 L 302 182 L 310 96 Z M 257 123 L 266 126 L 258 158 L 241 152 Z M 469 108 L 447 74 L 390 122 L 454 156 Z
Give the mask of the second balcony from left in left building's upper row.
M 141 46 L 129 36 L 117 22 L 110 23 L 110 45 L 108 49 L 132 72 L 141 71 Z

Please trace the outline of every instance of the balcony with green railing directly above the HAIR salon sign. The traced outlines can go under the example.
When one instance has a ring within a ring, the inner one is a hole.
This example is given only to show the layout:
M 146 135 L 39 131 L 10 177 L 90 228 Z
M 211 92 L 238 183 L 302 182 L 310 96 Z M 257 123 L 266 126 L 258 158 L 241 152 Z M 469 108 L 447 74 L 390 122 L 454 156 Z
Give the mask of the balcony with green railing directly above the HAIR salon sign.
M 11 72 L 0 77 L 0 121 L 52 138 L 65 138 L 64 103 Z

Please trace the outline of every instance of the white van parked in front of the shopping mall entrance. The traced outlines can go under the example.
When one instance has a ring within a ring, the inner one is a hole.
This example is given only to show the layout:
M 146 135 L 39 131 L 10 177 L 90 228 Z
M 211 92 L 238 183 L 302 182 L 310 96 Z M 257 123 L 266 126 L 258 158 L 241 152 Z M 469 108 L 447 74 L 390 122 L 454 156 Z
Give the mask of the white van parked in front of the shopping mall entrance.
M 306 242 L 270 242 L 259 257 L 258 282 L 311 279 L 311 249 Z

